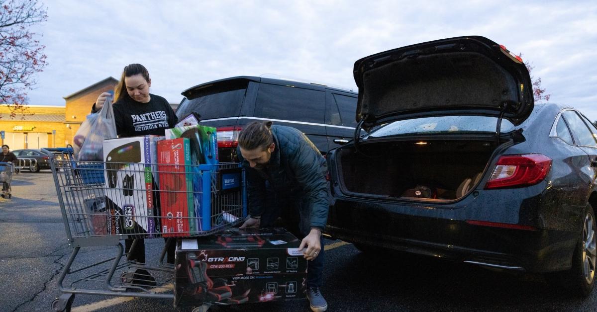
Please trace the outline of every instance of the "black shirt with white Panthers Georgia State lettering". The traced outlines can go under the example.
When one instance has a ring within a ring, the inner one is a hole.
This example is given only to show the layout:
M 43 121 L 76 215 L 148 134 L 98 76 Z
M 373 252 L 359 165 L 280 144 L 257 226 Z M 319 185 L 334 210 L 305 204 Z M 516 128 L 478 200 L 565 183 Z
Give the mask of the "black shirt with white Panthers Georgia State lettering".
M 174 128 L 179 121 L 168 101 L 155 94 L 151 100 L 140 103 L 125 97 L 114 103 L 116 132 L 121 138 L 137 135 L 164 135 L 165 129 Z

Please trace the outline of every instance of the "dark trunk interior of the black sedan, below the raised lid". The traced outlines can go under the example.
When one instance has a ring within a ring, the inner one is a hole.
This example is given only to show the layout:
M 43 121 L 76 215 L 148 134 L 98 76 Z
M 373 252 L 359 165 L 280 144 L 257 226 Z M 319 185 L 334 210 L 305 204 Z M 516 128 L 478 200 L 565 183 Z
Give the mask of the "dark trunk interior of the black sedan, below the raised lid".
M 469 193 L 496 150 L 495 140 L 408 140 L 362 143 L 336 151 L 346 193 L 454 200 Z

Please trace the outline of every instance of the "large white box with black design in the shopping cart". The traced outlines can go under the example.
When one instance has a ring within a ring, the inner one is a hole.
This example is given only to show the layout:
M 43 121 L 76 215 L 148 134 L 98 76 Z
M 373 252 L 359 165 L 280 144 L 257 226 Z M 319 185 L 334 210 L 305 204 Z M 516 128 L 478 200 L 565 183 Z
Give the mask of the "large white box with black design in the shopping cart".
M 104 140 L 107 223 L 111 234 L 159 231 L 156 143 L 160 135 Z M 120 220 L 120 222 L 119 222 Z M 118 230 L 120 233 L 115 233 Z M 150 235 L 151 237 L 152 235 Z M 134 237 L 134 235 L 132 235 Z

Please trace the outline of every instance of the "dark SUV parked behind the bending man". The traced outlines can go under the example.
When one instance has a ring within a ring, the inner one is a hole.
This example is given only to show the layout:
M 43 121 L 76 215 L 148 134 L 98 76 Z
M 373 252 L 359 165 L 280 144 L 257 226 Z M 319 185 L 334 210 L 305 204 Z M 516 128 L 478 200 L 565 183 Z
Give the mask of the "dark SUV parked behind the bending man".
M 287 79 L 238 76 L 196 85 L 182 92 L 176 115 L 201 116 L 217 128 L 220 161 L 236 158 L 238 132 L 253 121 L 293 126 L 326 154 L 346 143 L 356 126 L 356 92 Z

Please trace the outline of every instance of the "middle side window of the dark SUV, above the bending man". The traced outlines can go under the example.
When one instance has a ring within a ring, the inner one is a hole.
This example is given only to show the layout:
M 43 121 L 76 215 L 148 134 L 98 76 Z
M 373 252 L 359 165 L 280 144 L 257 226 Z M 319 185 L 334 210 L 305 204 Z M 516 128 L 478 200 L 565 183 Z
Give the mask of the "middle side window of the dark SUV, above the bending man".
M 258 118 L 324 123 L 325 92 L 260 84 L 253 115 Z

